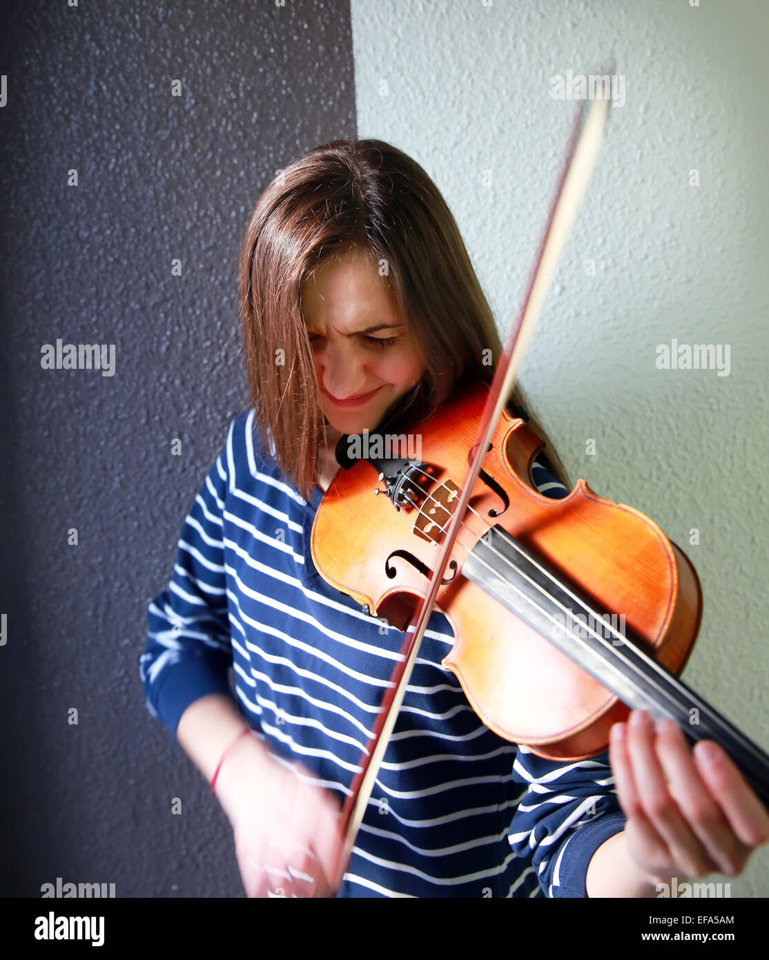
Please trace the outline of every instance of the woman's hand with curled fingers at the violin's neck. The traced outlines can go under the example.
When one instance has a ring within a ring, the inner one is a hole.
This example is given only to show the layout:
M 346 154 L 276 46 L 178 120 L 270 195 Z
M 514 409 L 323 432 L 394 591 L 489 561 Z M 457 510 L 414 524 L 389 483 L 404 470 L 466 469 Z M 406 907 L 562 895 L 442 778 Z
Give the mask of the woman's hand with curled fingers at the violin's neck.
M 628 851 L 651 882 L 739 876 L 769 841 L 769 813 L 712 740 L 691 748 L 674 721 L 655 725 L 633 710 L 629 723 L 613 724 L 609 761 Z

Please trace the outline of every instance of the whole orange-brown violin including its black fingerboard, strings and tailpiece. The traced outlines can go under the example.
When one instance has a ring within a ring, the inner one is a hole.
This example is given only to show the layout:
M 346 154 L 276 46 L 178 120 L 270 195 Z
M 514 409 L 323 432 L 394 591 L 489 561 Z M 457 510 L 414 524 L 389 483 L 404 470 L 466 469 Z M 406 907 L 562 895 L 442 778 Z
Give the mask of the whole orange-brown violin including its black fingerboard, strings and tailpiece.
M 340 469 L 318 509 L 321 576 L 400 631 L 426 596 L 488 391 L 466 384 L 414 424 L 419 460 Z M 613 723 L 646 708 L 721 743 L 746 776 L 760 765 L 753 782 L 769 797 L 769 758 L 677 680 L 702 618 L 694 566 L 654 520 L 585 480 L 543 496 L 530 474 L 543 446 L 503 411 L 436 595 L 455 636 L 443 665 L 486 726 L 538 756 L 596 756 Z

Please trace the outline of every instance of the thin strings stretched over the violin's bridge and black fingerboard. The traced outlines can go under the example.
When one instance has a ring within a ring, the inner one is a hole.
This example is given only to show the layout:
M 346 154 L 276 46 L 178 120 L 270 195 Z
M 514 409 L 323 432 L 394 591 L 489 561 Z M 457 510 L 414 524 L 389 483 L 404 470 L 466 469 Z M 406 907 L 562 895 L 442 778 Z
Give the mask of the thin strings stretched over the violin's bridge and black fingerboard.
M 416 467 L 416 465 L 415 465 L 415 467 Z M 429 479 L 434 479 L 434 478 L 430 477 L 430 474 L 427 473 L 425 470 L 423 470 L 423 469 L 421 469 L 421 468 L 419 468 L 419 467 L 416 467 L 416 468 L 417 468 L 421 473 L 423 473 L 426 477 L 428 477 Z M 413 483 L 414 486 L 417 487 L 418 490 L 419 490 L 421 493 L 424 494 L 425 500 L 432 500 L 432 501 L 433 501 L 434 503 L 436 503 L 439 507 L 442 507 L 442 509 L 445 509 L 445 508 L 443 507 L 443 504 L 441 504 L 438 500 L 436 500 L 435 497 L 434 497 L 431 493 L 428 493 L 427 491 L 425 491 L 425 490 L 421 487 L 421 485 L 420 485 L 419 483 L 417 483 L 416 480 L 410 479 L 410 482 Z M 431 523 L 434 523 L 441 531 L 443 531 L 444 534 L 446 533 L 445 527 L 444 527 L 442 524 L 438 523 L 436 520 L 433 520 L 433 519 L 431 519 L 429 516 L 427 516 L 426 514 L 424 514 L 424 513 L 422 512 L 422 510 L 421 510 L 421 507 L 420 507 L 418 504 L 416 504 L 409 496 L 407 496 L 404 492 L 401 492 L 400 495 L 402 495 L 406 500 L 408 500 L 408 502 L 417 510 L 417 513 L 418 513 L 420 516 L 424 516 L 425 519 L 428 519 L 428 520 L 430 520 Z M 472 507 L 470 507 L 469 504 L 467 505 L 467 508 L 468 508 L 468 510 L 469 510 L 471 513 L 473 513 L 475 516 L 478 517 L 478 519 L 479 519 L 480 522 L 486 527 L 486 531 L 488 532 L 488 531 L 491 529 L 491 527 L 486 523 L 486 520 L 484 520 L 483 517 L 479 516 L 479 514 L 478 514 Z M 472 534 L 473 537 L 476 536 L 475 532 L 472 530 L 471 527 L 469 527 L 469 525 L 468 525 L 467 523 L 465 523 L 464 520 L 460 520 L 459 522 L 460 522 L 460 526 L 463 526 L 463 527 L 464 527 L 464 526 L 468 526 L 468 529 L 469 529 L 469 531 L 470 531 L 470 533 Z M 536 560 L 533 560 L 532 558 L 527 557 L 527 556 L 523 553 L 523 551 L 520 549 L 520 547 L 517 545 L 515 539 L 511 538 L 510 535 L 507 533 L 506 530 L 500 528 L 500 533 L 501 533 L 501 535 L 503 535 L 503 536 L 506 538 L 506 540 L 510 543 L 510 545 L 513 546 L 514 549 L 516 549 L 517 552 L 520 553 L 521 556 L 524 557 L 525 560 L 528 560 L 531 564 L 533 564 L 534 566 L 536 566 L 537 569 L 539 569 L 539 570 L 541 571 L 541 573 L 542 573 L 545 577 L 547 577 L 549 580 L 551 580 L 557 587 L 559 587 L 559 588 L 561 588 L 562 590 L 564 590 L 564 592 L 567 593 L 570 597 L 572 597 L 572 599 L 573 599 L 577 604 L 579 604 L 580 606 L 584 607 L 584 609 L 585 609 L 587 612 L 593 614 L 593 618 L 594 618 L 595 620 L 600 619 L 601 622 L 604 624 L 604 626 L 607 627 L 607 628 L 611 631 L 611 633 L 613 633 L 614 636 L 619 637 L 619 640 L 620 640 L 620 644 L 621 644 L 621 645 L 624 646 L 624 645 L 627 643 L 627 641 L 625 640 L 625 638 L 624 638 L 623 636 L 621 636 L 621 635 L 613 628 L 613 625 L 612 625 L 611 623 L 608 623 L 607 621 L 605 621 L 602 617 L 599 616 L 599 614 L 598 614 L 597 612 L 593 611 L 593 610 L 589 607 L 589 605 L 588 605 L 587 603 L 585 603 L 584 601 L 580 600 L 579 597 L 575 596 L 575 594 L 574 594 L 569 588 L 567 588 L 566 585 L 565 585 L 562 581 L 558 580 L 557 577 L 553 576 L 553 574 L 552 574 L 546 567 L 541 566 L 541 564 L 537 563 Z M 432 542 L 433 542 L 433 545 L 434 545 L 434 546 L 437 546 L 437 545 L 438 545 L 437 543 L 435 543 L 434 540 L 433 540 Z M 459 543 L 460 546 L 462 546 L 462 547 L 468 552 L 468 554 L 471 553 L 471 550 L 470 550 L 467 546 L 465 546 L 465 544 L 462 543 L 460 540 L 456 540 L 456 542 Z M 661 664 L 660 664 L 660 663 L 658 663 L 656 660 L 652 660 L 650 657 L 648 657 L 648 656 L 646 655 L 646 653 L 645 653 L 644 651 L 640 650 L 640 648 L 638 648 L 635 644 L 633 645 L 633 649 L 634 649 L 634 651 L 636 652 L 636 654 L 637 654 L 637 656 L 639 657 L 639 659 L 640 659 L 640 660 L 644 660 L 644 661 L 646 662 L 647 666 L 653 668 L 653 669 L 655 670 L 655 672 L 657 672 L 658 674 L 660 674 L 660 676 L 661 676 L 661 678 L 663 679 L 663 681 L 665 681 L 665 683 L 667 684 L 666 686 L 661 686 L 660 684 L 656 684 L 653 678 L 649 677 L 647 674 L 644 674 L 643 671 L 642 671 L 642 670 L 637 666 L 637 664 L 635 664 L 632 660 L 629 660 L 628 658 L 624 657 L 624 654 L 623 654 L 620 650 L 618 650 L 618 649 L 616 648 L 616 646 L 614 646 L 613 644 L 610 644 L 609 641 L 608 641 L 605 637 L 599 636 L 598 634 L 595 633 L 595 631 L 592 630 L 591 627 L 589 627 L 589 625 L 585 625 L 585 624 L 582 623 L 582 621 L 577 620 L 576 616 L 574 615 L 574 613 L 573 613 L 572 611 L 570 611 L 567 607 L 565 607 L 559 600 L 557 600 L 557 599 L 556 599 L 555 597 L 553 597 L 551 594 L 546 593 L 546 591 L 544 590 L 544 588 L 541 587 L 540 584 L 538 584 L 536 581 L 532 580 L 532 579 L 531 579 L 529 576 L 527 576 L 522 570 L 520 570 L 515 564 L 512 564 L 512 563 L 510 562 L 510 560 L 509 560 L 507 557 L 505 557 L 504 554 L 502 554 L 502 553 L 500 553 L 498 550 L 496 550 L 496 549 L 492 546 L 492 544 L 487 544 L 487 546 L 489 547 L 489 550 L 490 550 L 493 554 L 495 554 L 497 557 L 500 557 L 505 564 L 508 564 L 509 566 L 511 566 L 511 567 L 517 572 L 517 574 L 518 574 L 519 576 L 523 577 L 523 578 L 524 578 L 525 580 L 527 580 L 533 587 L 536 587 L 538 590 L 540 590 L 541 593 L 543 593 L 545 596 L 549 597 L 549 599 L 550 599 L 553 603 L 555 603 L 558 607 L 560 607 L 560 608 L 571 618 L 571 620 L 573 620 L 573 621 L 576 622 L 576 623 L 579 623 L 579 624 L 580 624 L 580 627 L 581 627 L 583 630 L 586 630 L 589 634 L 591 634 L 591 635 L 598 641 L 598 643 L 599 643 L 600 645 L 606 647 L 606 648 L 608 649 L 608 651 L 613 655 L 613 657 L 617 658 L 618 660 L 624 660 L 624 662 L 626 663 L 626 665 L 627 665 L 628 667 L 630 667 L 630 668 L 631 668 L 632 670 L 634 670 L 637 674 L 639 674 L 641 677 L 643 677 L 643 679 L 649 681 L 649 682 L 658 690 L 658 692 L 659 692 L 663 697 L 666 697 L 667 699 L 672 700 L 673 703 L 674 703 L 679 709 L 682 709 L 682 710 L 685 710 L 685 709 L 686 709 L 685 704 L 680 703 L 679 701 L 676 700 L 675 696 L 672 696 L 672 695 L 671 695 L 671 693 L 670 693 L 670 691 L 669 691 L 669 688 L 668 688 L 668 687 L 670 686 L 671 677 L 670 677 L 670 675 L 669 675 L 668 673 L 666 673 L 666 672 L 664 671 L 664 669 L 661 667 Z M 480 557 L 476 557 L 475 560 L 476 560 L 478 563 L 483 564 L 483 565 L 484 565 L 488 570 L 490 570 L 492 573 L 496 573 L 496 571 L 494 570 L 493 566 L 491 566 L 491 564 L 487 564 L 487 563 L 486 563 L 484 560 L 482 560 Z M 547 611 L 545 611 L 542 607 L 540 607 L 534 600 L 532 600 L 531 597 L 529 597 L 529 596 L 527 596 L 526 594 L 524 594 L 524 593 L 523 593 L 521 590 L 519 590 L 514 584 L 510 583 L 510 581 L 508 581 L 508 584 L 509 584 L 510 587 L 512 587 L 514 590 L 516 590 L 516 592 L 523 598 L 523 600 L 524 600 L 525 602 L 527 602 L 527 603 L 531 604 L 532 606 L 534 606 L 535 609 L 537 609 L 539 612 L 541 612 L 548 620 L 552 621 L 554 624 L 556 623 L 555 619 L 554 619 Z M 560 626 L 560 625 L 559 625 L 559 626 Z M 572 639 L 574 639 L 579 646 L 584 647 L 586 650 L 588 650 L 588 651 L 591 652 L 591 653 L 593 652 L 593 651 L 592 651 L 592 648 L 591 648 L 590 645 L 589 645 L 589 643 L 585 642 L 582 637 L 580 637 L 580 636 L 573 636 Z M 615 664 L 612 662 L 612 660 L 604 660 L 603 662 L 604 662 L 608 667 L 610 667 L 610 668 L 614 671 L 614 673 L 617 674 L 619 677 L 621 677 L 621 678 L 624 679 L 624 680 L 627 680 L 627 679 L 628 679 L 627 674 L 626 674 L 626 673 L 623 673 L 620 669 L 618 669 L 618 668 L 615 666 Z M 673 679 L 675 679 L 675 678 L 673 678 Z M 706 712 L 708 712 L 708 713 L 710 714 L 711 711 L 709 710 L 709 708 L 707 707 L 707 705 L 705 705 L 704 703 L 702 703 L 702 701 L 700 701 L 698 697 L 693 697 L 692 699 L 696 699 L 696 701 L 700 704 L 700 708 L 703 709 L 703 710 L 705 710 Z

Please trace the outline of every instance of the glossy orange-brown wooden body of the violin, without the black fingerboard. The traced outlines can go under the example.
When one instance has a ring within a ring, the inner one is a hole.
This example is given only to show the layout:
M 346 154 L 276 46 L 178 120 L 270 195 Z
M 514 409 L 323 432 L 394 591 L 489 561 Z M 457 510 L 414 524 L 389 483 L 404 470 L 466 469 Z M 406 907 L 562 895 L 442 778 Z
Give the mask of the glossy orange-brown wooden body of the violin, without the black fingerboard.
M 425 516 L 410 505 L 396 510 L 387 496 L 373 495 L 376 474 L 367 461 L 336 474 L 319 510 L 311 541 L 318 571 L 401 631 L 416 596 L 425 595 L 436 546 L 444 538 L 441 526 L 448 513 L 441 500 L 450 494 L 436 487 L 452 478 L 461 482 L 487 392 L 477 381 L 419 425 L 421 459 L 438 468 L 429 485 L 438 502 L 427 502 Z M 584 480 L 565 499 L 537 492 L 530 465 L 543 445 L 523 420 L 500 418 L 469 501 L 478 516 L 466 515 L 458 537 L 465 549 L 455 551 L 455 563 L 449 564 L 454 575 L 447 569 L 450 582 L 439 589 L 436 607 L 456 637 L 443 665 L 456 674 L 484 723 L 539 756 L 577 759 L 605 750 L 611 725 L 625 720 L 630 710 L 463 576 L 467 553 L 485 532 L 479 517 L 536 551 L 562 579 L 587 592 L 595 610 L 624 616 L 626 627 L 673 672 L 683 668 L 697 636 L 702 593 L 683 552 L 637 510 L 597 496 Z M 428 486 L 424 476 L 418 483 Z M 413 499 L 423 500 L 418 490 L 414 494 Z M 436 525 L 428 527 L 427 517 Z M 339 569 L 342 557 L 347 573 Z

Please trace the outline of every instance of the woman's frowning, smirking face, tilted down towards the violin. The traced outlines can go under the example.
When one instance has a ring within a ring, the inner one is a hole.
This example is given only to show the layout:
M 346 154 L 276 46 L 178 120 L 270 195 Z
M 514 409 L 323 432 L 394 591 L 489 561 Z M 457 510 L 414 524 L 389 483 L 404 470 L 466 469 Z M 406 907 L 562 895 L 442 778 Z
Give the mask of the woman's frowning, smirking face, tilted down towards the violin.
M 362 252 L 346 252 L 307 280 L 301 304 L 326 420 L 340 434 L 375 429 L 426 366 L 387 277 Z M 363 394 L 372 396 L 353 399 Z

